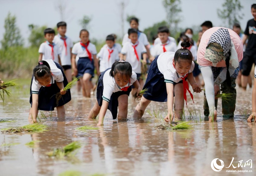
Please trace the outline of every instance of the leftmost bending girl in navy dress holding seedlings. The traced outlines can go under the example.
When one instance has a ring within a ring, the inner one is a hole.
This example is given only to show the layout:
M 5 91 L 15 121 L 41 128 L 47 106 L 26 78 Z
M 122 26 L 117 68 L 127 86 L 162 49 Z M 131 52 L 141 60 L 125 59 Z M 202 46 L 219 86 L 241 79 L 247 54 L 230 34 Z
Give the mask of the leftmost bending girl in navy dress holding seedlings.
M 67 84 L 67 78 L 58 63 L 53 60 L 40 61 L 34 68 L 31 79 L 29 100 L 31 109 L 28 121 L 36 122 L 39 109 L 53 111 L 55 107 L 57 107 L 58 118 L 65 117 L 64 105 L 71 100 L 70 90 L 64 90 Z M 55 95 L 59 92 L 62 97 L 56 102 Z

